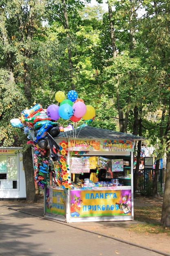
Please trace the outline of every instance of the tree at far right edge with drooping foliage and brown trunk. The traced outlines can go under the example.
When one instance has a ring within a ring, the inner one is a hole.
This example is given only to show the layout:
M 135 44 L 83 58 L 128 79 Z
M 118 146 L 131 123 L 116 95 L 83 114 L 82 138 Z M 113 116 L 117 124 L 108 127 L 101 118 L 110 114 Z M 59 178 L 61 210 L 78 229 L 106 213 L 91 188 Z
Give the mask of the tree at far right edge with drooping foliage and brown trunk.
M 161 216 L 161 225 L 166 227 L 170 226 L 170 157 L 169 157 L 169 129 L 170 129 L 170 65 L 168 60 L 170 59 L 169 53 L 169 2 L 168 1 L 156 1 L 154 3 L 146 4 L 146 14 L 142 22 L 143 38 L 146 42 L 148 49 L 148 63 L 150 64 L 150 70 L 148 72 L 148 81 L 150 84 L 154 84 L 154 89 L 151 91 L 155 95 L 156 108 L 162 110 L 162 122 L 160 140 L 163 142 L 163 146 L 166 146 L 167 153 L 167 170 L 166 170 L 166 183 L 165 191 L 163 195 L 163 207 Z M 148 33 L 145 33 L 147 26 Z M 157 104 L 157 105 L 156 105 Z M 159 104 L 159 106 L 158 106 Z M 161 147 L 162 148 L 162 147 Z M 161 152 L 161 151 L 160 151 Z M 160 153 L 161 154 L 161 153 Z M 160 156 L 159 154 L 159 156 Z

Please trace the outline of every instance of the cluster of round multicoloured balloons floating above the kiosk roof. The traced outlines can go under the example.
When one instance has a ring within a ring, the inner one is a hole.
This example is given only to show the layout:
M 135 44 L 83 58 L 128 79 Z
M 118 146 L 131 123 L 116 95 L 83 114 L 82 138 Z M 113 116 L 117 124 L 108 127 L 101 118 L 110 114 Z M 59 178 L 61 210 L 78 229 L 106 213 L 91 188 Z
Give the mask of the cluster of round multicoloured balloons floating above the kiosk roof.
M 58 120 L 60 117 L 62 119 L 70 119 L 73 122 L 78 122 L 81 118 L 84 120 L 94 119 L 95 108 L 91 105 L 86 105 L 83 99 L 78 98 L 78 94 L 75 90 L 70 90 L 65 99 L 65 94 L 62 91 L 55 93 L 55 99 L 60 103 L 50 105 L 46 113 L 53 119 Z

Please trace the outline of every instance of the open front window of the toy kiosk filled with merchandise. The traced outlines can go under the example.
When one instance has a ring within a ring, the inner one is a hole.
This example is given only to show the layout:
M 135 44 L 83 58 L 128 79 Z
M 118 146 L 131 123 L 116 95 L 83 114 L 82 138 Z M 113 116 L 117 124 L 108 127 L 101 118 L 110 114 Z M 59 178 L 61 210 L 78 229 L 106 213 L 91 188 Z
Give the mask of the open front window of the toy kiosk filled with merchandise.
M 118 186 L 131 185 L 131 156 L 74 156 L 71 157 L 71 182 L 83 184 L 92 182 L 108 182 Z M 104 183 L 101 183 L 105 186 Z

